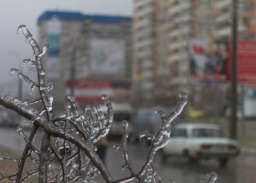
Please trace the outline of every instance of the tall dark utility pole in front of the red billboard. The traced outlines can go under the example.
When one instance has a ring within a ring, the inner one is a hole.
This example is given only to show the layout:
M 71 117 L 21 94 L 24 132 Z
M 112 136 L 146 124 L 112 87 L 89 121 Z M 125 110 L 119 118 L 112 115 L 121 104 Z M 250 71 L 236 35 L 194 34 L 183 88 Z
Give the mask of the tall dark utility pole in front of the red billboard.
M 230 138 L 237 139 L 237 0 L 232 0 L 232 80 Z

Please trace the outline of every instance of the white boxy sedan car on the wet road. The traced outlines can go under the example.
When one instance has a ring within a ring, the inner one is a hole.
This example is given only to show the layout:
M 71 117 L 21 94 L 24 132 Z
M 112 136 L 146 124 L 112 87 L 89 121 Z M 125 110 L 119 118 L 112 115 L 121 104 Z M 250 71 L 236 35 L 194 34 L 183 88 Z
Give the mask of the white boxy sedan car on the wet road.
M 219 125 L 176 124 L 161 152 L 163 160 L 168 155 L 181 156 L 188 163 L 217 157 L 221 166 L 225 166 L 229 157 L 239 154 L 239 145 L 237 140 L 223 137 Z

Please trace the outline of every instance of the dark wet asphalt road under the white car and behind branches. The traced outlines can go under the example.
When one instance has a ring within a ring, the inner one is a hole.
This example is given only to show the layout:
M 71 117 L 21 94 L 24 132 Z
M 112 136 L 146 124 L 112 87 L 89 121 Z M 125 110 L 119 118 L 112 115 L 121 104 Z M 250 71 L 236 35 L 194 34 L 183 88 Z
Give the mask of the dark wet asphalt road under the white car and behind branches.
M 26 131 L 26 134 L 29 134 Z M 37 133 L 35 146 L 40 148 L 42 131 Z M 112 148 L 113 143 L 109 142 L 105 162 L 111 175 L 115 179 L 129 175 L 127 169 L 122 171 L 120 168 L 123 164 L 122 153 Z M 17 135 L 15 129 L 0 128 L 0 145 L 12 148 L 15 151 L 22 152 L 26 146 L 24 139 Z M 140 146 L 140 144 L 128 144 L 128 151 L 134 169 L 138 171 L 147 158 L 148 147 Z M 154 159 L 159 175 L 163 182 L 168 182 L 170 178 L 176 180 L 176 183 L 199 183 L 205 178 L 206 173 L 215 171 L 219 177 L 217 183 L 255 183 L 256 182 L 256 155 L 239 155 L 230 159 L 226 168 L 219 167 L 216 160 L 201 160 L 199 164 L 187 165 L 181 161 L 179 157 L 169 157 L 165 163 L 161 162 L 160 153 L 156 153 Z M 97 182 L 104 182 L 102 178 L 97 177 Z M 134 181 L 135 182 L 135 181 Z

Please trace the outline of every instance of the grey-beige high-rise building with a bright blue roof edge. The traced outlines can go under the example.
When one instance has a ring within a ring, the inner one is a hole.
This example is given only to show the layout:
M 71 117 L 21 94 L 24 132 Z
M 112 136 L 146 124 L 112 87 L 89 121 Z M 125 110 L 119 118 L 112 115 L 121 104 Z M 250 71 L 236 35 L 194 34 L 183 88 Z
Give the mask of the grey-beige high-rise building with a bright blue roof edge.
M 39 43 L 50 44 L 44 58 L 46 79 L 55 82 L 53 95 L 60 106 L 64 106 L 66 82 L 71 79 L 91 84 L 106 81 L 111 83 L 114 102 L 129 100 L 130 17 L 47 11 L 39 17 L 38 25 Z

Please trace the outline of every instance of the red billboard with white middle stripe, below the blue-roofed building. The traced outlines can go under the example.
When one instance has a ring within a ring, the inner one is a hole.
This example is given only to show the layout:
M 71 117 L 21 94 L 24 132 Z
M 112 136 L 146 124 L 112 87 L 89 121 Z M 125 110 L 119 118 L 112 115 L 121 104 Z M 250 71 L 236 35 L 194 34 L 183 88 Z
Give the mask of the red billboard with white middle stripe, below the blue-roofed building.
M 71 82 L 66 82 L 66 95 L 70 94 Z M 75 81 L 74 94 L 80 105 L 104 104 L 101 95 L 113 100 L 113 84 L 109 80 L 82 79 Z

